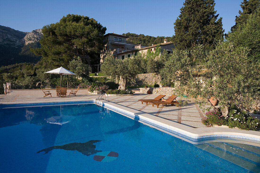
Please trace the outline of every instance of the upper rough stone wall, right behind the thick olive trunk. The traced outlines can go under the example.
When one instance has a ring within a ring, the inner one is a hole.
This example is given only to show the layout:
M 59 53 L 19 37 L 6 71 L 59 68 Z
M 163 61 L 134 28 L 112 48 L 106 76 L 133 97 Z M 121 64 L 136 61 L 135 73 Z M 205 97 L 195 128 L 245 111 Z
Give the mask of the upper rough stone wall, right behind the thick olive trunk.
M 155 73 L 138 74 L 134 82 L 129 82 L 128 85 L 153 85 L 160 84 L 161 76 Z

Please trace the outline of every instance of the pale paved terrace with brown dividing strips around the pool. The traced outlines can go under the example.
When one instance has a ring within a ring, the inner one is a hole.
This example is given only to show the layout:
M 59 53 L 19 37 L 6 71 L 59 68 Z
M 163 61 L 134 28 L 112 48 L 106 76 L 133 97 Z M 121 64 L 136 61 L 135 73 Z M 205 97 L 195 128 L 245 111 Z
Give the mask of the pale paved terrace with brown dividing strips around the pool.
M 157 94 L 134 94 L 133 96 L 109 96 L 108 101 L 129 107 L 135 110 L 139 110 L 154 116 L 158 116 L 169 121 L 178 122 L 190 127 L 199 128 L 207 127 L 200 121 L 204 117 L 204 113 L 199 109 L 198 105 L 191 101 L 185 107 L 176 107 L 171 105 L 159 105 L 152 107 L 151 104 L 141 104 L 138 99 L 153 99 L 157 97 Z M 98 95 L 94 94 L 79 94 L 78 96 L 67 97 L 44 97 L 37 95 L 0 95 L 1 103 L 41 103 L 41 102 L 73 102 L 73 101 L 87 101 L 96 99 Z M 166 96 L 167 99 L 169 97 Z M 178 98 L 177 98 L 178 100 Z

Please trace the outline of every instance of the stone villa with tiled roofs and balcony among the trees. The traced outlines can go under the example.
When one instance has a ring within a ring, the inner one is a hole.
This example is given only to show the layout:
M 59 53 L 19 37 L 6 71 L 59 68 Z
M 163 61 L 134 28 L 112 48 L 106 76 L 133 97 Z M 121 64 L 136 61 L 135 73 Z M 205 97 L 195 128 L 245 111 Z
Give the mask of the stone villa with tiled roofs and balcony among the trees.
M 100 52 L 100 63 L 103 62 L 106 57 L 106 51 L 109 50 L 113 53 L 113 56 L 117 59 L 125 59 L 127 57 L 131 57 L 135 55 L 135 53 L 140 52 L 141 54 L 146 54 L 147 50 L 151 52 L 155 52 L 155 48 L 159 46 L 161 49 L 161 53 L 165 49 L 167 52 L 172 52 L 172 48 L 175 48 L 172 42 L 167 42 L 167 39 L 164 39 L 164 43 L 154 44 L 152 46 L 145 46 L 141 44 L 133 44 L 131 42 L 127 42 L 127 36 L 108 33 L 104 35 L 105 48 Z

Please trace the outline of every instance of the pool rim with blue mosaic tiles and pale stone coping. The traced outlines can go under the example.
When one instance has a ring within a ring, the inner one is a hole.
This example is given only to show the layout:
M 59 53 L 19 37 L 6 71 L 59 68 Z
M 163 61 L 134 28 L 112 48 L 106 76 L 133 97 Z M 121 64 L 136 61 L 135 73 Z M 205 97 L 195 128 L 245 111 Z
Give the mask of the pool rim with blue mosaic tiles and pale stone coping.
M 90 100 L 90 101 L 76 101 L 76 102 L 47 102 L 47 103 L 21 103 L 21 104 L 1 104 L 0 105 L 0 109 L 3 109 L 3 108 L 11 108 L 11 107 L 21 107 L 21 106 L 37 106 L 37 105 L 57 105 L 57 104 L 84 104 L 84 103 L 95 103 L 94 100 Z M 205 135 L 205 136 L 193 136 L 193 135 L 189 135 L 183 131 L 179 131 L 177 129 L 173 129 L 173 128 L 170 128 L 168 126 L 165 126 L 165 125 L 162 125 L 161 123 L 157 123 L 156 121 L 152 120 L 152 119 L 149 119 L 149 118 L 146 118 L 146 117 L 140 117 L 139 115 L 136 115 L 134 113 L 129 113 L 128 111 L 125 111 L 123 109 L 119 109 L 119 108 L 116 108 L 114 106 L 111 106 L 109 104 L 106 104 L 106 103 L 103 103 L 103 102 L 100 102 L 100 105 L 102 107 L 107 107 L 111 110 L 114 110 L 114 111 L 117 111 L 117 112 L 120 112 L 124 115 L 127 115 L 129 117 L 132 117 L 133 119 L 135 119 L 136 121 L 141 121 L 141 122 L 144 122 L 144 123 L 147 123 L 147 124 L 150 124 L 156 128 L 159 128 L 159 129 L 162 129 L 166 132 L 169 132 L 171 134 L 174 134 L 174 135 L 177 135 L 177 136 L 180 136 L 182 138 L 185 138 L 189 141 L 192 141 L 192 142 L 196 142 L 196 143 L 199 143 L 199 142 L 203 142 L 203 141 L 209 141 L 209 140 L 216 140 L 216 139 L 231 139 L 231 140 L 234 140 L 234 138 L 240 138 L 240 139 L 243 139 L 243 141 L 248 141 L 248 142 L 255 142 L 255 143 L 260 143 L 260 138 L 254 138 L 254 137 L 248 137 L 248 136 L 240 136 L 240 135 Z M 236 140 L 236 139 L 235 139 Z

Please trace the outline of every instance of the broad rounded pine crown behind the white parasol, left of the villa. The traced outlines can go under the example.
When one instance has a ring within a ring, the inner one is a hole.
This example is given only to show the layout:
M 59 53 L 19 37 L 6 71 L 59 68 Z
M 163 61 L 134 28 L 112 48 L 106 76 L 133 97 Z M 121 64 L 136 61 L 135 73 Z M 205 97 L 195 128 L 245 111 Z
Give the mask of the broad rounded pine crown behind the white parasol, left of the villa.
M 77 57 L 87 59 L 90 65 L 94 54 L 99 53 L 104 45 L 105 32 L 106 27 L 93 18 L 68 14 L 60 22 L 43 26 L 41 48 L 31 51 L 54 67 L 62 65 L 68 68 L 69 61 Z

